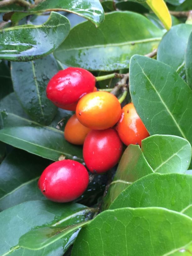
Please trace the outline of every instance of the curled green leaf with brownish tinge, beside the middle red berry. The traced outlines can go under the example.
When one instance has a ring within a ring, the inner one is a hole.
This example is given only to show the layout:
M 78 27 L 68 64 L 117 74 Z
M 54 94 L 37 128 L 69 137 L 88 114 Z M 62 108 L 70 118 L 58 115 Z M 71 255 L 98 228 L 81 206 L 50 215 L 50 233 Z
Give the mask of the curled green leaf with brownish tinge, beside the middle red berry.
M 102 210 L 108 209 L 115 198 L 137 179 L 153 173 L 138 145 L 129 145 L 123 153 L 115 177 L 104 197 Z

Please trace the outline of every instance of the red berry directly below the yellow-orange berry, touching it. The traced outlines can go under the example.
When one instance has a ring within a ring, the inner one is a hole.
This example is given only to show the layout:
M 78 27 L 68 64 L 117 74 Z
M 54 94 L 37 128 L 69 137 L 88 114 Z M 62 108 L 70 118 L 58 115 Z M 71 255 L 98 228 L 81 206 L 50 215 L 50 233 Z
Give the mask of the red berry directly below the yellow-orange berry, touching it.
M 112 128 L 90 131 L 83 144 L 83 158 L 92 173 L 104 173 L 114 167 L 121 153 L 122 142 Z

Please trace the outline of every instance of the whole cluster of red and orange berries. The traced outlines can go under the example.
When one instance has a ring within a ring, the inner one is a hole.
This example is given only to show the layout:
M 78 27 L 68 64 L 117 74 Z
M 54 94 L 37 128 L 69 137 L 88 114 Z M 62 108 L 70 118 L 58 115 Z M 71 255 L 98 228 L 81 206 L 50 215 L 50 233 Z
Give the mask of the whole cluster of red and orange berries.
M 83 159 L 90 172 L 104 173 L 118 163 L 122 142 L 141 146 L 149 134 L 132 103 L 121 109 L 115 95 L 98 91 L 95 83 L 87 70 L 69 67 L 51 78 L 46 93 L 59 108 L 76 111 L 65 126 L 65 139 L 83 145 Z M 38 184 L 50 200 L 68 202 L 82 195 L 88 182 L 82 164 L 62 160 L 49 165 Z

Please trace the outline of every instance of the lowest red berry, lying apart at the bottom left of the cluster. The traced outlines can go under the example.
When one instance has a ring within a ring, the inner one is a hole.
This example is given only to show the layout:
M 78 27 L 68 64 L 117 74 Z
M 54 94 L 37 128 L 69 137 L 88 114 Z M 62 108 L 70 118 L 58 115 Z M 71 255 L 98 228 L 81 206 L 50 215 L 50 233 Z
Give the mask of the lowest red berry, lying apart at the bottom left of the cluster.
M 45 168 L 38 186 L 49 200 L 66 203 L 82 195 L 88 183 L 88 171 L 83 164 L 73 160 L 61 160 Z

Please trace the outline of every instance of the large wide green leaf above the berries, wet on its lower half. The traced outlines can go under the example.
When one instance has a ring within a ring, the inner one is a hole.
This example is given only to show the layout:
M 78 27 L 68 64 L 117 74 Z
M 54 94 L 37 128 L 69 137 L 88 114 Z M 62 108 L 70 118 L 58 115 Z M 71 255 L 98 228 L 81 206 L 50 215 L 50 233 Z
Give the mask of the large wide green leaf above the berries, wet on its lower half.
M 75 26 L 54 55 L 67 66 L 118 70 L 129 67 L 133 54 L 144 55 L 157 48 L 162 35 L 144 16 L 116 11 L 106 14 L 99 28 L 89 22 Z

